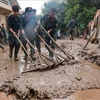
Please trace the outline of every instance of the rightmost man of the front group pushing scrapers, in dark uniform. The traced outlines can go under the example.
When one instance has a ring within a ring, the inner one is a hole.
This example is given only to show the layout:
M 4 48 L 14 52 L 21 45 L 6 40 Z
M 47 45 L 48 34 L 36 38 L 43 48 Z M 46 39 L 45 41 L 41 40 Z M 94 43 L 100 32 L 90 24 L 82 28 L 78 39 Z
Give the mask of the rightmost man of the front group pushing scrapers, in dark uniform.
M 46 14 L 43 18 L 41 18 L 40 22 L 44 22 L 44 28 L 50 34 L 50 36 L 56 40 L 56 27 L 58 24 L 57 19 L 55 18 L 56 15 L 56 9 L 51 8 L 50 14 Z M 45 36 L 45 42 L 52 48 L 55 49 L 55 44 L 51 40 L 51 38 L 46 34 Z M 47 50 L 49 51 L 49 57 L 51 60 L 53 60 L 53 52 L 46 46 Z

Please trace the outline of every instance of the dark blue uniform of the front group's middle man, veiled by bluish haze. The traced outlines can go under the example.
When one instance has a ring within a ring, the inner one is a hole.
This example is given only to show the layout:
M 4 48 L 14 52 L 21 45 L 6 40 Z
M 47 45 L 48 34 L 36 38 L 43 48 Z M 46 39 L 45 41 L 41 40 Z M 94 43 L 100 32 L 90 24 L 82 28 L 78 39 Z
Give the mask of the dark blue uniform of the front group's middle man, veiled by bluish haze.
M 20 29 L 21 30 L 23 29 L 25 31 L 26 37 L 28 38 L 30 43 L 34 46 L 34 42 L 35 42 L 35 38 L 36 38 L 35 28 L 37 26 L 36 17 L 33 16 L 32 14 L 29 14 L 27 16 L 27 13 L 24 13 L 22 15 L 20 21 L 21 21 Z M 27 47 L 26 47 L 27 41 L 25 40 L 25 38 L 23 36 L 21 37 L 21 40 L 22 40 L 24 47 L 27 50 Z M 25 53 L 25 51 L 24 51 L 24 53 Z M 34 53 L 35 53 L 34 49 L 30 46 L 30 56 L 33 56 Z M 25 53 L 25 56 L 27 56 L 26 53 Z

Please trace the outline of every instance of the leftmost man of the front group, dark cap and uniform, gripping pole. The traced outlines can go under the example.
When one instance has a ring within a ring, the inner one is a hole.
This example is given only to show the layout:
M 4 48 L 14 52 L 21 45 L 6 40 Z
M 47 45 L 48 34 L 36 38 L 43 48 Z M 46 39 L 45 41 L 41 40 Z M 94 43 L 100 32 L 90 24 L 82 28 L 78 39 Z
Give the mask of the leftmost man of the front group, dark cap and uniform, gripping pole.
M 16 36 L 20 36 L 20 17 L 19 17 L 19 7 L 17 5 L 12 7 L 13 14 L 8 17 L 8 37 L 9 37 L 9 57 L 12 58 L 13 49 L 14 50 L 14 60 L 18 61 L 18 52 L 20 48 L 20 43 L 18 42 Z

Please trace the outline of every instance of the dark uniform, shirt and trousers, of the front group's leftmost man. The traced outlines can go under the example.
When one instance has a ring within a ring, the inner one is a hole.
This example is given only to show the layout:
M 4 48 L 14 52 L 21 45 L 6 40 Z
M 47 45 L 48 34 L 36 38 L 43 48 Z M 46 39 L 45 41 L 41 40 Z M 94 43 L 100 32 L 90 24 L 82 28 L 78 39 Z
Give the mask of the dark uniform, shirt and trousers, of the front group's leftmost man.
M 18 34 L 18 30 L 20 30 L 20 17 L 15 17 L 14 15 L 10 15 L 8 17 L 8 38 L 9 38 L 9 47 L 10 47 L 10 57 L 12 57 L 12 52 L 15 47 L 14 51 L 14 58 L 17 58 L 17 54 L 19 52 L 20 43 L 16 39 L 15 36 L 13 36 L 13 33 L 9 30 L 10 28 L 13 29 L 13 31 Z

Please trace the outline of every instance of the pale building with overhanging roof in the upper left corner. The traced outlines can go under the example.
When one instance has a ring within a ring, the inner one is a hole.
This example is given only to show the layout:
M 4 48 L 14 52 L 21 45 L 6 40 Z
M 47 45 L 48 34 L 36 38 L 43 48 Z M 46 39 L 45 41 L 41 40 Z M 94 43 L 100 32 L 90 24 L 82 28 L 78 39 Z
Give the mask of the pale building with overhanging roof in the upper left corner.
M 5 28 L 7 28 L 7 17 L 11 14 L 13 5 L 20 7 L 17 0 L 0 0 L 0 25 L 4 23 Z

